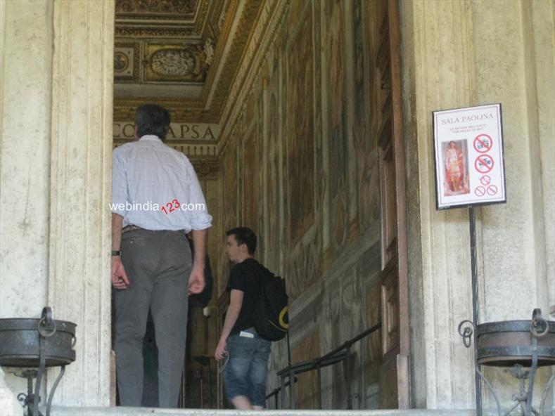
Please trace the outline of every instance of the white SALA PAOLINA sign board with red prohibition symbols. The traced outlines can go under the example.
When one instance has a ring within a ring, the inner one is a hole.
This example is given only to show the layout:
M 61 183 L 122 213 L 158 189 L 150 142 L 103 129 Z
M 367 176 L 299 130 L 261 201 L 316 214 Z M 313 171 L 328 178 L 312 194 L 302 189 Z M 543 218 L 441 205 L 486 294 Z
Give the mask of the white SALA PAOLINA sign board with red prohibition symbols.
M 433 112 L 438 209 L 506 202 L 501 104 Z

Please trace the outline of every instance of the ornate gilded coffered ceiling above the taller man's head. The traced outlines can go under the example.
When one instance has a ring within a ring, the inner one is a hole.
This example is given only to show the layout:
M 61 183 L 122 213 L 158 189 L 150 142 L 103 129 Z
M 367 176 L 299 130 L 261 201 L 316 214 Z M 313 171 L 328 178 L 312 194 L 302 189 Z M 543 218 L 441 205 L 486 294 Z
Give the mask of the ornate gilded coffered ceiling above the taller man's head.
M 181 129 L 219 123 L 267 1 L 116 0 L 118 128 L 132 121 L 136 106 L 145 102 L 164 105 Z

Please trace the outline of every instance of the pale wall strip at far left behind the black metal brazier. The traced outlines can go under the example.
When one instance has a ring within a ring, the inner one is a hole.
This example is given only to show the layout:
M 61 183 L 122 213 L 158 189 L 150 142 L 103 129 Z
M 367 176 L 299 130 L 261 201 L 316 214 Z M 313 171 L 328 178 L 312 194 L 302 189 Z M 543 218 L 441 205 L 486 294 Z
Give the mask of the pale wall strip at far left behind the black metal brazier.
M 46 305 L 52 18 L 51 1 L 0 2 L 0 318 Z M 15 370 L 0 371 L 2 415 L 27 391 Z

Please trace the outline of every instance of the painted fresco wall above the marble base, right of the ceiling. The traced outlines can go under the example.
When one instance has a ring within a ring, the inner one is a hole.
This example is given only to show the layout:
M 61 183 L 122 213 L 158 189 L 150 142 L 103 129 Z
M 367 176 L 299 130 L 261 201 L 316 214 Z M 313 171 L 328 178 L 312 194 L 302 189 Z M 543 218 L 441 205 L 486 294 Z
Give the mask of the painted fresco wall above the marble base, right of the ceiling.
M 291 1 L 222 155 L 222 204 L 238 209 L 224 228 L 264 226 L 259 256 L 288 274 L 293 299 L 379 221 L 370 3 Z

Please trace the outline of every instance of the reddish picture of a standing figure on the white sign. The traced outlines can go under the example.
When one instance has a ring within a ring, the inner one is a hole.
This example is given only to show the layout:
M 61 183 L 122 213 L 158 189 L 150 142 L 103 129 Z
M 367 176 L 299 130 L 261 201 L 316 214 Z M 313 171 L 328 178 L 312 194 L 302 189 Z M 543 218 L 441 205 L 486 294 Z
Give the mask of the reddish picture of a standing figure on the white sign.
M 470 192 L 468 186 L 468 150 L 466 140 L 445 141 L 441 145 L 445 181 L 443 195 L 462 195 Z

